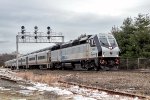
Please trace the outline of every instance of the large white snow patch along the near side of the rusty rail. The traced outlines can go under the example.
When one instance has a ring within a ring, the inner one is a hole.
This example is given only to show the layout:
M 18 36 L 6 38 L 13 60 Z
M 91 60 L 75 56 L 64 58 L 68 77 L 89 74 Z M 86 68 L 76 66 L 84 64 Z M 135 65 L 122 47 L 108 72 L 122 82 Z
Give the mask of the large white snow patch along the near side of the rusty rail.
M 133 98 L 120 96 L 120 95 L 110 95 L 104 91 L 80 88 L 78 86 L 72 86 L 67 88 L 67 90 L 72 93 L 78 94 L 78 96 L 74 96 L 74 100 L 133 100 Z M 87 99 L 88 98 L 88 99 Z M 134 100 L 139 100 L 138 98 L 134 98 Z

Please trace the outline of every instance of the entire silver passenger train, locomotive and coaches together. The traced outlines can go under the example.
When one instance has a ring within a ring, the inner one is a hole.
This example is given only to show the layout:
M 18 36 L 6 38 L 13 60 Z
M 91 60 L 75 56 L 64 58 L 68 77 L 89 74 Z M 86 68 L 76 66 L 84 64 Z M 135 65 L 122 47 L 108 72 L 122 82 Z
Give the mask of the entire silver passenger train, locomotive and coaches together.
M 18 59 L 19 68 L 114 70 L 119 66 L 120 49 L 112 34 L 81 35 L 75 40 L 41 49 Z M 16 68 L 16 59 L 5 62 Z

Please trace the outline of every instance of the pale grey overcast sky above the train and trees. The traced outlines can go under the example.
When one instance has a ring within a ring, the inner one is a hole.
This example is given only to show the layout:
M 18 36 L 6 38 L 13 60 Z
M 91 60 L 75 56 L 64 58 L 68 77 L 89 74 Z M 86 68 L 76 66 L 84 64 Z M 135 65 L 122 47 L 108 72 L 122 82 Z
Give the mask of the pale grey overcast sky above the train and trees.
M 24 25 L 46 32 L 50 26 L 62 32 L 65 41 L 80 34 L 108 33 L 127 17 L 150 12 L 150 0 L 0 0 L 0 53 L 16 50 L 16 34 Z M 48 47 L 50 44 L 19 44 L 20 53 Z

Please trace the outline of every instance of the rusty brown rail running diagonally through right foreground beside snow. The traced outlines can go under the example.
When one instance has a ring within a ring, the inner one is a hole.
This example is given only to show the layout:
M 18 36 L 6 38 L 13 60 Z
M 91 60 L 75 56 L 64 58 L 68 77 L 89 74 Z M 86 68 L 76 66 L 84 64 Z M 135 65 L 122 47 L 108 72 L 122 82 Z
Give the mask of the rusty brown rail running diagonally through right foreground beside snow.
M 98 91 L 104 91 L 107 92 L 108 94 L 111 95 L 121 95 L 121 96 L 127 96 L 127 97 L 138 97 L 139 99 L 144 99 L 144 100 L 150 100 L 150 97 L 148 96 L 142 96 L 142 95 L 137 95 L 137 94 L 130 94 L 126 92 L 119 92 L 119 91 L 114 91 L 114 90 L 109 90 L 109 89 L 103 89 L 103 88 L 98 88 L 98 87 L 92 87 L 92 86 L 87 86 L 87 85 L 82 85 L 78 83 L 73 83 L 73 82 L 66 82 L 66 81 L 58 81 L 59 83 L 67 84 L 67 85 L 74 85 L 74 86 L 79 86 L 81 88 L 86 88 L 86 89 L 93 89 L 93 90 L 98 90 Z

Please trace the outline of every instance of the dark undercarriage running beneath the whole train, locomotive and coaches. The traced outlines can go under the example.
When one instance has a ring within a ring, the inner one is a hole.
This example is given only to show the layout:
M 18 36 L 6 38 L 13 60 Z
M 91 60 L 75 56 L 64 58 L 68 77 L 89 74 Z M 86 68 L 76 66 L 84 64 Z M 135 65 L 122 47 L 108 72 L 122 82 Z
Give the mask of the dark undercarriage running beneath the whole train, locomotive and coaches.
M 78 61 L 66 61 L 66 62 L 53 62 L 51 64 L 42 64 L 42 65 L 24 65 L 19 66 L 20 69 L 59 69 L 59 70 L 76 70 L 80 67 L 82 70 L 118 70 L 119 58 L 97 58 L 90 60 L 78 60 Z M 13 66 L 12 69 L 15 69 Z

